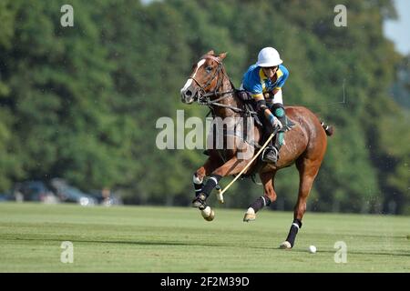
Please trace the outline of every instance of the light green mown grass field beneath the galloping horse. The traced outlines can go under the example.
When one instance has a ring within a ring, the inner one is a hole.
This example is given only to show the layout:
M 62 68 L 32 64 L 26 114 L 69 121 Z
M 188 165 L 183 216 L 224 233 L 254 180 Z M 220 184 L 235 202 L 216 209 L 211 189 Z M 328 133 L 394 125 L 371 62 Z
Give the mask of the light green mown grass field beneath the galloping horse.
M 410 272 L 410 217 L 307 213 L 292 250 L 292 213 L 0 204 L 0 272 Z M 60 261 L 70 241 L 74 262 Z M 347 245 L 336 264 L 334 243 Z M 316 254 L 307 252 L 310 245 Z

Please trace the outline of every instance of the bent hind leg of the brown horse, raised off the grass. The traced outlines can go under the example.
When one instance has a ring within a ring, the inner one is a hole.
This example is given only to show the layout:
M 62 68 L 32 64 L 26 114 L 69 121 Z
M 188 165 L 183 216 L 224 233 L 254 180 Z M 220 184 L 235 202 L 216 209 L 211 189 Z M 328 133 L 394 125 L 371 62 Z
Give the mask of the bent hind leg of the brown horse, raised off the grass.
M 256 213 L 264 206 L 270 206 L 276 200 L 276 192 L 273 186 L 273 179 L 276 172 L 268 172 L 261 174 L 261 182 L 263 184 L 264 195 L 260 196 L 249 206 L 243 217 L 243 221 L 250 222 L 256 219 Z

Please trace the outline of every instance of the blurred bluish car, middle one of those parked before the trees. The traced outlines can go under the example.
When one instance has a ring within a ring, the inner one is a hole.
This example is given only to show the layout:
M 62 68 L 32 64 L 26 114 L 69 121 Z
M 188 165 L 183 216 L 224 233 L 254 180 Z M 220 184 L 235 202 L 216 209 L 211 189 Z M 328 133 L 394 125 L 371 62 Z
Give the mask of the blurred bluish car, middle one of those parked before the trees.
M 77 203 L 80 206 L 95 206 L 97 199 L 90 194 L 84 193 L 75 186 L 70 186 L 61 178 L 51 179 L 50 188 L 56 193 L 61 202 Z

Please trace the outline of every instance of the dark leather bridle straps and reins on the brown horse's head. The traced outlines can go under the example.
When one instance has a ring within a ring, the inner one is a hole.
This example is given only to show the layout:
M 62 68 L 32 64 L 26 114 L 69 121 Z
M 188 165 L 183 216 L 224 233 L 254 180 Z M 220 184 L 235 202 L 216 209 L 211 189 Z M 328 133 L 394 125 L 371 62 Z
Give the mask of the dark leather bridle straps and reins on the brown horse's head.
M 199 105 L 209 106 L 210 110 L 212 112 L 213 112 L 213 107 L 212 107 L 213 105 L 229 108 L 229 109 L 231 109 L 235 112 L 244 112 L 244 110 L 242 110 L 241 108 L 219 103 L 220 100 L 223 100 L 227 97 L 232 96 L 232 93 L 235 92 L 235 89 L 234 89 L 234 86 L 231 82 L 230 77 L 228 75 L 226 75 L 225 71 L 223 70 L 223 66 L 222 66 L 222 63 L 220 62 L 220 59 L 218 59 L 218 57 L 213 56 L 213 55 L 202 55 L 202 57 L 200 59 L 206 59 L 206 58 L 210 58 L 211 60 L 215 61 L 218 64 L 215 72 L 210 77 L 208 82 L 205 85 L 200 85 L 200 82 L 195 77 L 193 77 L 193 76 L 189 77 L 189 79 L 192 79 L 197 85 L 200 86 L 200 91 L 197 92 L 197 94 L 196 94 L 198 104 Z M 231 87 L 233 88 L 233 90 L 218 91 L 220 89 L 220 86 L 222 85 L 222 79 L 223 79 L 222 77 L 220 77 L 220 75 L 224 75 L 228 78 L 228 80 L 231 83 Z M 212 92 L 207 93 L 205 89 L 213 82 L 213 80 L 216 77 L 218 77 L 218 81 L 217 81 L 217 85 L 215 86 L 215 89 Z M 210 100 L 210 97 L 212 97 L 212 96 L 220 96 L 220 97 L 215 99 L 215 100 Z

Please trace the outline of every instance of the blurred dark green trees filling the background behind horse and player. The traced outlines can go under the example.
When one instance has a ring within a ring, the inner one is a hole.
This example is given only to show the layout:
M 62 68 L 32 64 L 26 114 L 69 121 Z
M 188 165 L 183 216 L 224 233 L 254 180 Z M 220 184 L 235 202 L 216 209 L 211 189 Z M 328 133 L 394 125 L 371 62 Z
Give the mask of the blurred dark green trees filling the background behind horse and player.
M 179 101 L 200 55 L 228 52 L 224 64 L 239 86 L 269 45 L 291 72 L 285 104 L 305 105 L 335 126 L 309 209 L 408 214 L 409 114 L 389 95 L 397 70 L 393 93 L 408 104 L 408 59 L 382 29 L 395 9 L 388 0 L 347 1 L 347 27 L 336 27 L 337 4 L 72 1 L 74 27 L 62 27 L 60 4 L 2 1 L 0 189 L 61 176 L 85 189 L 118 187 L 129 202 L 189 205 L 205 156 L 159 150 L 156 121 L 176 124 L 178 109 L 185 120 L 205 117 L 207 108 Z M 292 209 L 296 169 L 276 182 L 272 208 Z M 226 206 L 246 207 L 261 194 L 238 182 Z

